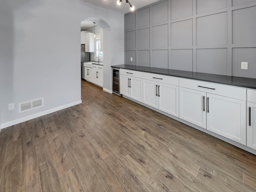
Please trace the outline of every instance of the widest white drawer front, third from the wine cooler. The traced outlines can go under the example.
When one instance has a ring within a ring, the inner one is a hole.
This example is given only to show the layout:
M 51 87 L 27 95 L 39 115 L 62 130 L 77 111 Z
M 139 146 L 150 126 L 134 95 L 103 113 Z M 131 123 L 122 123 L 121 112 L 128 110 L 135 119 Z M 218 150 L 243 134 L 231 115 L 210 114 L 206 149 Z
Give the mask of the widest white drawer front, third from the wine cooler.
M 246 100 L 246 88 L 180 78 L 180 87 Z

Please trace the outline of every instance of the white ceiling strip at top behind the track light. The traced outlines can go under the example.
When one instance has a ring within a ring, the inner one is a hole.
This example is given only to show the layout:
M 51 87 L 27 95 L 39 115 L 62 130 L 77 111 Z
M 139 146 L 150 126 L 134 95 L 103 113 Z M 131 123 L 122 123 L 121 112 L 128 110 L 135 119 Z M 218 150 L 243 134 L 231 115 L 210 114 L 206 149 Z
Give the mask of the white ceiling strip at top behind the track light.
M 130 12 L 130 5 L 126 3 L 126 0 L 122 0 L 122 4 L 120 6 L 116 4 L 116 0 L 83 0 L 83 1 L 90 4 L 94 4 L 96 6 L 106 8 L 106 9 L 110 9 L 119 13 L 123 13 L 123 14 Z M 130 4 L 132 4 L 135 7 L 135 10 L 157 1 L 159 0 L 129 0 Z

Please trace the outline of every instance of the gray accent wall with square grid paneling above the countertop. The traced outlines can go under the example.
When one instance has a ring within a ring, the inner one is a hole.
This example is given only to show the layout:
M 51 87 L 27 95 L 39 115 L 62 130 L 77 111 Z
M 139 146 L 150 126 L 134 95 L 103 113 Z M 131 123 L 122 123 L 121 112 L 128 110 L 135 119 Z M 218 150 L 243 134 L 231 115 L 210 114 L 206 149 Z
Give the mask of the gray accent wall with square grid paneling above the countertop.
M 126 64 L 256 78 L 255 18 L 256 0 L 160 0 L 125 14 Z

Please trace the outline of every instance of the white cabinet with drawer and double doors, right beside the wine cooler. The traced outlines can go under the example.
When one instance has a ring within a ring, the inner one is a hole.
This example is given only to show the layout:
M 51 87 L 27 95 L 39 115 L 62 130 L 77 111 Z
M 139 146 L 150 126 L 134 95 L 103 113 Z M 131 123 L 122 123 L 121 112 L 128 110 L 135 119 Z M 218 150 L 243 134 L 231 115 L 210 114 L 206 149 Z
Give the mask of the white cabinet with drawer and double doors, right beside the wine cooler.
M 142 72 L 120 69 L 120 93 L 142 102 Z

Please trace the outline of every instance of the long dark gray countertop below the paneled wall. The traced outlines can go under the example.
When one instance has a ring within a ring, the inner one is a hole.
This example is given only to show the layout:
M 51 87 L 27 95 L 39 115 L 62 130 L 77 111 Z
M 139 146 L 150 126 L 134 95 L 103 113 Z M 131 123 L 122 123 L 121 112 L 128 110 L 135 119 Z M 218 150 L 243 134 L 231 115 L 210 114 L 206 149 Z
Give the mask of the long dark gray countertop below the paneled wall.
M 254 78 L 216 75 L 134 65 L 115 65 L 112 67 L 256 89 L 256 79 Z

